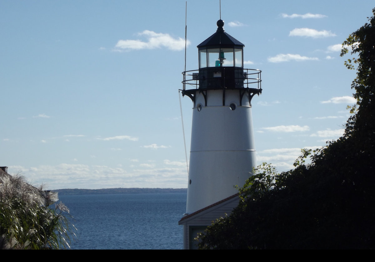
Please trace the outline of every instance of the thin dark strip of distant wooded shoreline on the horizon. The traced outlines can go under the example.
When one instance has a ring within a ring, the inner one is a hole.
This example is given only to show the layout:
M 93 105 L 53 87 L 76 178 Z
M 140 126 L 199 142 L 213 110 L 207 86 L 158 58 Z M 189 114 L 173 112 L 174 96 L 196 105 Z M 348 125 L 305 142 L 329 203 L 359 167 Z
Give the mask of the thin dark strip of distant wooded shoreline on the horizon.
M 187 188 L 104 188 L 104 189 L 56 189 L 59 195 L 105 195 L 105 194 L 161 194 L 186 193 Z

